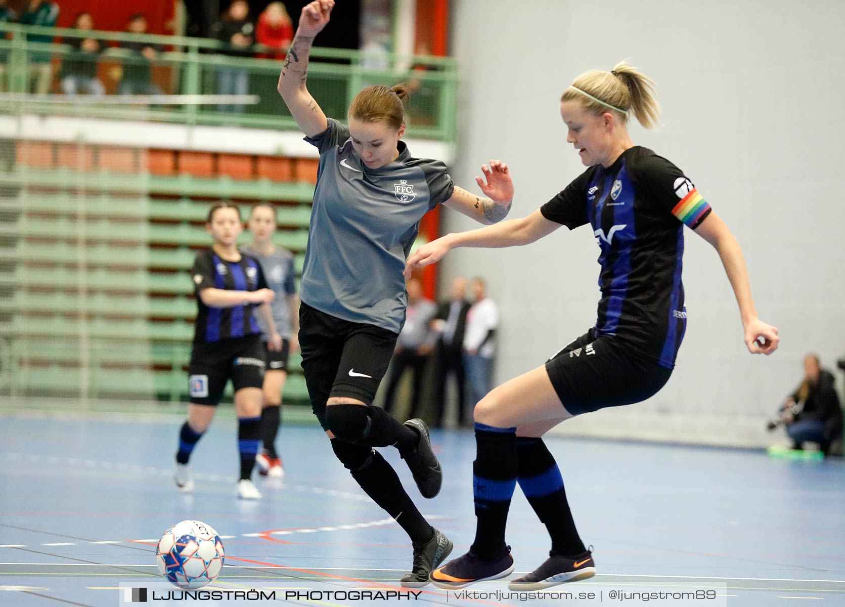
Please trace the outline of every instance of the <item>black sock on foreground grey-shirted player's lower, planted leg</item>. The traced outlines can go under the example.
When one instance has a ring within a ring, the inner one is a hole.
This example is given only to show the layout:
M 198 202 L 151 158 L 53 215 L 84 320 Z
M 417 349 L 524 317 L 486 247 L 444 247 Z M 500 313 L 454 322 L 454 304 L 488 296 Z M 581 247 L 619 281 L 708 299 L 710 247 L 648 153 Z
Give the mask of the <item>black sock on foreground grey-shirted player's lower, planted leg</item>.
M 432 526 L 417 510 L 395 470 L 381 457 L 379 451 L 338 439 L 331 440 L 331 447 L 361 489 L 405 529 L 413 544 L 419 546 L 432 539 Z

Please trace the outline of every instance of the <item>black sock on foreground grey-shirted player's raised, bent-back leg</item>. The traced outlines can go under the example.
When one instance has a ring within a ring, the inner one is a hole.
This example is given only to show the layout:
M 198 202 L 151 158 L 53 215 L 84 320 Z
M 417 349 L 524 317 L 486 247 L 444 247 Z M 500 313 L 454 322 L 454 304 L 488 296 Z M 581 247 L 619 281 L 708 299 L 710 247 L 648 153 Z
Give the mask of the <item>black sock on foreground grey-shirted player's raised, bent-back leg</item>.
M 404 454 L 415 449 L 420 439 L 417 430 L 400 424 L 381 407 L 330 405 L 325 418 L 337 438 L 356 445 L 395 446 Z

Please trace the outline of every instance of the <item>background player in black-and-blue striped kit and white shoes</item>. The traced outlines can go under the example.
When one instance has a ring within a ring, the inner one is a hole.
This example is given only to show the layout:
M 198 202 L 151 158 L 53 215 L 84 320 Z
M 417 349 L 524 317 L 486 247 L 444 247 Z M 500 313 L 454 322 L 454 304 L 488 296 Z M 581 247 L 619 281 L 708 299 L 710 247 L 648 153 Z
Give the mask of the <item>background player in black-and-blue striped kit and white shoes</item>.
M 270 327 L 269 347 L 278 350 L 281 336 L 275 331 L 269 305 L 275 295 L 267 288 L 259 262 L 237 250 L 243 223 L 236 205 L 222 202 L 211 207 L 205 227 L 214 244 L 197 254 L 191 272 L 198 308 L 188 365 L 191 402 L 188 419 L 179 432 L 175 480 L 180 491 L 194 490 L 188 460 L 231 379 L 241 462 L 237 495 L 256 500 L 261 494 L 250 477 L 261 442 L 265 353 L 253 311 L 260 306 L 264 323 Z

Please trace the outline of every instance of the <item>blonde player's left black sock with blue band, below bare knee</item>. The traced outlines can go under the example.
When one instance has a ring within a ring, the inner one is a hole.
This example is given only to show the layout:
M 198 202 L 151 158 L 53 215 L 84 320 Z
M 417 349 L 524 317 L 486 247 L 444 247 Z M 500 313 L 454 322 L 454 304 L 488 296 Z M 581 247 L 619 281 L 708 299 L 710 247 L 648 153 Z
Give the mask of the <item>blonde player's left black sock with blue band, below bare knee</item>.
M 470 550 L 492 560 L 505 550 L 504 528 L 517 473 L 516 429 L 475 424 L 476 459 L 472 462 L 472 489 L 477 517 L 476 537 Z

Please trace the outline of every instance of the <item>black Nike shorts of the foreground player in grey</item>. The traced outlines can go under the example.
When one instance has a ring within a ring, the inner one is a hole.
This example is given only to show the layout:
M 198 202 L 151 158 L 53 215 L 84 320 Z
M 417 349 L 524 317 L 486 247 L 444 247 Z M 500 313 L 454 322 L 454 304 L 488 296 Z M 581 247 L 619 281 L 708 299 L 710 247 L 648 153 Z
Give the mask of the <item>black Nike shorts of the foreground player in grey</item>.
M 376 325 L 341 320 L 299 306 L 299 347 L 311 408 L 326 428 L 325 407 L 332 396 L 373 404 L 399 336 Z

